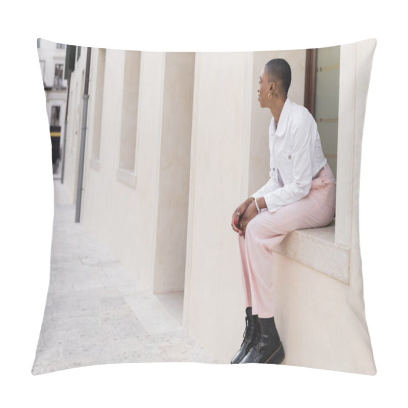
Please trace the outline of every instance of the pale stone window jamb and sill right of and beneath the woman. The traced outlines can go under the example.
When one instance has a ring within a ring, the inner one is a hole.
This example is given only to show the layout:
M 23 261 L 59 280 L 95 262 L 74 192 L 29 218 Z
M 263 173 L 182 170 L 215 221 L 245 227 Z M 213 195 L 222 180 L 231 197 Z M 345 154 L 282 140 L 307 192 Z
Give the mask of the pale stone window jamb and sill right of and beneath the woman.
M 274 248 L 275 252 L 347 285 L 350 283 L 352 228 L 358 223 L 358 213 L 353 211 L 359 197 L 359 183 L 355 179 L 361 163 L 358 130 L 361 127 L 362 131 L 364 122 L 364 115 L 356 114 L 361 104 L 357 89 L 357 46 L 348 44 L 340 48 L 338 134 L 342 137 L 337 140 L 335 222 L 322 228 L 294 231 Z M 309 85 L 311 83 L 309 80 Z

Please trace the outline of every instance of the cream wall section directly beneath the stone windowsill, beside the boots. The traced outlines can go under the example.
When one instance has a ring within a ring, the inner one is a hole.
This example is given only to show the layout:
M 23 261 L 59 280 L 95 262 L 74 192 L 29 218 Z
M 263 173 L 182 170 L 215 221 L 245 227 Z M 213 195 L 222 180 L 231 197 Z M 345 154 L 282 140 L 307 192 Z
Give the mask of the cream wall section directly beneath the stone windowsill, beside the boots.
M 354 288 L 278 254 L 275 262 L 275 320 L 285 364 L 374 374 Z

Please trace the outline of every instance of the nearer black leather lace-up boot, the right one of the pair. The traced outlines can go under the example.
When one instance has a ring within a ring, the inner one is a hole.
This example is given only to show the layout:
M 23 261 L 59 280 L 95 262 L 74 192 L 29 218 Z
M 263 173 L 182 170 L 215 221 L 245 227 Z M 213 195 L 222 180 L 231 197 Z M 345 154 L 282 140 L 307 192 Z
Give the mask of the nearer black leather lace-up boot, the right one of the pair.
M 258 319 L 258 330 L 253 346 L 240 361 L 245 363 L 281 364 L 285 352 L 273 317 Z

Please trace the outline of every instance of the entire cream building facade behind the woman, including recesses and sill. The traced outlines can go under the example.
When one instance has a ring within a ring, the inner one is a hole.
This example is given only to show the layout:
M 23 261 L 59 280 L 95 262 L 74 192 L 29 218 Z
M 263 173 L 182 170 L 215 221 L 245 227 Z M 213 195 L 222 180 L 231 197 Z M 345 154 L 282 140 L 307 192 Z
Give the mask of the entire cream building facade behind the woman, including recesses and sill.
M 338 47 L 335 64 L 321 62 L 322 72 L 338 69 L 338 105 L 322 114 L 320 127 L 336 166 L 336 222 L 294 232 L 276 248 L 275 319 L 285 364 L 375 373 L 365 319 L 354 313 L 364 316 L 358 198 L 368 87 L 356 67 L 370 69 L 371 45 Z M 289 98 L 303 105 L 307 50 L 91 50 L 81 222 L 147 291 L 183 292 L 184 325 L 220 363 L 242 339 L 231 216 L 268 178 L 270 112 L 259 107 L 257 89 L 264 64 L 276 57 L 291 65 Z M 65 183 L 73 202 L 85 69 L 83 50 L 68 106 Z M 325 88 L 324 77 L 318 81 Z M 339 137 L 327 136 L 324 123 L 335 123 Z

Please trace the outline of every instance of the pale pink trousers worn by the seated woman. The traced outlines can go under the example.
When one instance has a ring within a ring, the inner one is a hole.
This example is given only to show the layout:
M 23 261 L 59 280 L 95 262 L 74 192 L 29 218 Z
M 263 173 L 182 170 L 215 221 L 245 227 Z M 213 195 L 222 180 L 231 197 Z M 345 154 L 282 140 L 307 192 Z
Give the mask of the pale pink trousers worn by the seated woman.
M 271 213 L 261 211 L 239 237 L 245 305 L 260 318 L 274 316 L 273 247 L 291 231 L 316 228 L 333 221 L 336 183 L 328 164 L 312 181 L 309 194 Z

